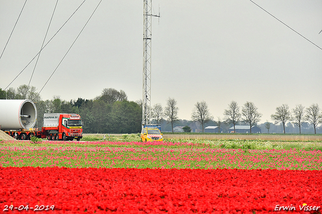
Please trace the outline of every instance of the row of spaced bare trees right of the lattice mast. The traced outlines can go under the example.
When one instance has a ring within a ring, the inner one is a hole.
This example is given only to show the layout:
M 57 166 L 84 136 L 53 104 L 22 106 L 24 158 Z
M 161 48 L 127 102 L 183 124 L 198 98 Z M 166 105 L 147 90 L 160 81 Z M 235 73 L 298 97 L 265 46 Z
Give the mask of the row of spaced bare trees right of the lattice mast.
M 168 98 L 167 106 L 163 112 L 162 105 L 157 103 L 152 108 L 152 117 L 157 123 L 165 119 L 172 126 L 172 132 L 174 123 L 179 121 L 177 101 L 174 98 Z M 247 101 L 241 108 L 236 101 L 231 101 L 228 104 L 228 108 L 224 110 L 224 119 L 218 117 L 217 120 L 213 120 L 213 116 L 209 112 L 208 104 L 205 101 L 200 101 L 195 104 L 191 113 L 192 121 L 198 121 L 202 126 L 202 132 L 204 132 L 205 124 L 213 121 L 220 127 L 222 123 L 226 125 L 231 124 L 235 132 L 235 126 L 240 123 L 247 123 L 250 126 L 250 132 L 252 133 L 252 126 L 257 125 L 260 121 L 262 114 L 258 112 L 258 108 L 253 102 Z M 301 104 L 295 106 L 290 110 L 287 104 L 282 104 L 276 108 L 275 114 L 271 115 L 271 119 L 276 124 L 281 123 L 283 125 L 283 133 L 285 133 L 285 125 L 287 122 L 291 122 L 299 128 L 301 134 L 301 126 L 303 123 L 310 123 L 314 128 L 314 134 L 316 134 L 316 127 L 322 123 L 322 113 L 318 104 L 312 104 L 308 108 Z M 265 128 L 270 130 L 270 123 L 265 123 Z

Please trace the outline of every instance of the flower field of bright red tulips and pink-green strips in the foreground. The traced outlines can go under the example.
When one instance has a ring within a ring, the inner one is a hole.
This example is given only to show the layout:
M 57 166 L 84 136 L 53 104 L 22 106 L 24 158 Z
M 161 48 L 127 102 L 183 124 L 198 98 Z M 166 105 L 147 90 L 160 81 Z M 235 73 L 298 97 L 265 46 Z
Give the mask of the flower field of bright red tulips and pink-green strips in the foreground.
M 2 212 L 321 213 L 319 150 L 55 143 L 0 147 Z

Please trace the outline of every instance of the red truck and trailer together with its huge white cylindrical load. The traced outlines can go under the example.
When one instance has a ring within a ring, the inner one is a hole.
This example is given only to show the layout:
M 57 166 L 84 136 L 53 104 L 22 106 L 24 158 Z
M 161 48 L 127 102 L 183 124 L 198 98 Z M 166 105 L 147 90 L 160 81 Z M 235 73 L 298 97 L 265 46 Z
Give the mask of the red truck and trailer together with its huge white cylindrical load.
M 0 130 L 19 140 L 30 140 L 32 136 L 48 140 L 81 140 L 83 121 L 77 114 L 44 114 L 41 128 L 37 122 L 35 103 L 29 99 L 0 99 Z

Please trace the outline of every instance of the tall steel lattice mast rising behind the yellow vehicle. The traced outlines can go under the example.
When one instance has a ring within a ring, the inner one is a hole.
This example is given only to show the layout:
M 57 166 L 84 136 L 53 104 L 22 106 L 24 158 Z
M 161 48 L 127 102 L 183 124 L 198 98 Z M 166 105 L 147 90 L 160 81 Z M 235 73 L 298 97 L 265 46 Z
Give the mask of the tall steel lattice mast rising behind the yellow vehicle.
M 152 36 L 152 0 L 143 0 L 143 95 L 142 127 L 151 121 L 151 36 Z

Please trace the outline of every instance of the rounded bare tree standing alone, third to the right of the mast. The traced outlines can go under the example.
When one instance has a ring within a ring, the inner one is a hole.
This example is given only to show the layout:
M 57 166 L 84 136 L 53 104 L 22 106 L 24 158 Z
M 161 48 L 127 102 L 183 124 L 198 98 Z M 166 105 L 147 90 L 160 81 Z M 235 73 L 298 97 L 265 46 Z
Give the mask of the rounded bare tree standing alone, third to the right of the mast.
M 202 126 L 202 132 L 204 132 L 204 125 L 212 120 L 212 116 L 209 113 L 208 104 L 205 101 L 197 102 L 195 108 L 191 113 L 191 119 L 198 121 Z

